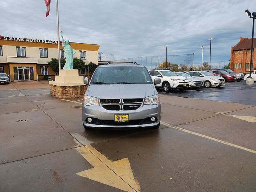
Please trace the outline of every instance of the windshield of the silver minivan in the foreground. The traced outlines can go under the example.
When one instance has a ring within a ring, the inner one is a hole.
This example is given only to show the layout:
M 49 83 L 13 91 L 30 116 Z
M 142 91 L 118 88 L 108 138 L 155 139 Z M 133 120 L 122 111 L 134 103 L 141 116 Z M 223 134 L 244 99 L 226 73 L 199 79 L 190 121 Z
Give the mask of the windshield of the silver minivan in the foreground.
M 98 67 L 92 76 L 91 84 L 152 84 L 146 67 L 107 66 Z

